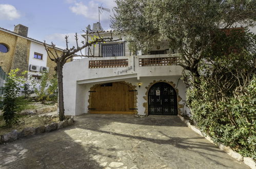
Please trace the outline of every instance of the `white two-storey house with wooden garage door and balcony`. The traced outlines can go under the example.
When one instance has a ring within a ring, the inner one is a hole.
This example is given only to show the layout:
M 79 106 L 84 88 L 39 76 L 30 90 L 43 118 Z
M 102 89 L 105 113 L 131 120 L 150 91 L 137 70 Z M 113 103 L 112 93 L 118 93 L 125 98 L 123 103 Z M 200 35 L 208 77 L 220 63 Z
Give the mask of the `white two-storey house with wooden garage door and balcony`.
M 93 25 L 93 31 L 96 25 Z M 97 36 L 97 33 L 92 35 Z M 111 34 L 101 31 L 100 35 L 110 37 Z M 111 43 L 95 44 L 85 51 L 86 55 L 100 57 L 65 64 L 65 114 L 190 113 L 185 105 L 186 87 L 181 80 L 183 68 L 176 65 L 180 60 L 179 54 L 169 55 L 165 41 L 147 53 L 138 51 L 137 55 L 129 51 L 124 38 Z

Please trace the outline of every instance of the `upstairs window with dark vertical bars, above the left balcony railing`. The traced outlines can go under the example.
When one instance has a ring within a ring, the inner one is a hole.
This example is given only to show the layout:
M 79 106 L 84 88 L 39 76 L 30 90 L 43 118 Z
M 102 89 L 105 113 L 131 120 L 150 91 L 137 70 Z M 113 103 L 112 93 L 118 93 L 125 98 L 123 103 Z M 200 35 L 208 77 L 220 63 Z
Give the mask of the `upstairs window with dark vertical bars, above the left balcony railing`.
M 124 43 L 102 44 L 102 56 L 124 56 Z

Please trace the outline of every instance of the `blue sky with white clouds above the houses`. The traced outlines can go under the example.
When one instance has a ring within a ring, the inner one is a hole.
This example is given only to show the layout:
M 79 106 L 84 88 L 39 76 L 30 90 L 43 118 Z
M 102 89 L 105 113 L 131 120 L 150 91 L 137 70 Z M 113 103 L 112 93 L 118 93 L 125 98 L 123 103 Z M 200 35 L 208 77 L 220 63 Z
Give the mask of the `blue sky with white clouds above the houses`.
M 74 45 L 74 33 L 81 34 L 90 24 L 99 22 L 98 7 L 109 8 L 100 15 L 104 30 L 110 30 L 114 0 L 0 0 L 0 27 L 14 30 L 14 25 L 27 26 L 28 37 L 51 41 L 65 48 L 65 35 Z M 80 37 L 82 41 L 82 36 Z

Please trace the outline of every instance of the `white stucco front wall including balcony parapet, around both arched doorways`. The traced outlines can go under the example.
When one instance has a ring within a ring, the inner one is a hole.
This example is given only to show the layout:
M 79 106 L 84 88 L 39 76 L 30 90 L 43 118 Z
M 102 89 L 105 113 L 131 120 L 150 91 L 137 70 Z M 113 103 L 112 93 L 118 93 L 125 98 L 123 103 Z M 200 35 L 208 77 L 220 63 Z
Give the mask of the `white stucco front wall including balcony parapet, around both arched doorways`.
M 141 67 L 136 66 L 135 71 L 132 69 L 117 75 L 117 71 L 124 70 L 127 67 L 88 69 L 88 59 L 69 62 L 64 66 L 65 113 L 69 115 L 87 113 L 90 88 L 95 84 L 114 81 L 125 81 L 136 86 L 138 91 L 137 111 L 140 115 L 145 113 L 143 103 L 146 101 L 144 98 L 147 91 L 146 87 L 154 80 L 173 82 L 179 90 L 178 95 L 181 97 L 179 104 L 183 105 L 186 99 L 186 88 L 183 81 L 180 80 L 182 69 L 176 67 L 178 66 L 151 66 L 143 67 L 141 70 Z M 140 76 L 140 74 L 143 76 Z M 142 83 L 141 88 L 137 87 L 138 82 Z M 188 113 L 189 110 L 185 108 L 181 112 Z

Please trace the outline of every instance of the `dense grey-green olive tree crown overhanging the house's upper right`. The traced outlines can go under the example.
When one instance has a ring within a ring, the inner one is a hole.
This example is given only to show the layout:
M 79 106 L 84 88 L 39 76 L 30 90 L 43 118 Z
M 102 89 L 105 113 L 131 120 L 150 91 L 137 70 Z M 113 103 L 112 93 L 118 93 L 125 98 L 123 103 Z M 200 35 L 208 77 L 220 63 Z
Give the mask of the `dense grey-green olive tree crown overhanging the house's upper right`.
M 116 0 L 111 27 L 126 35 L 131 49 L 146 50 L 167 40 L 193 77 L 214 41 L 213 34 L 235 25 L 255 26 L 256 1 L 251 0 Z

